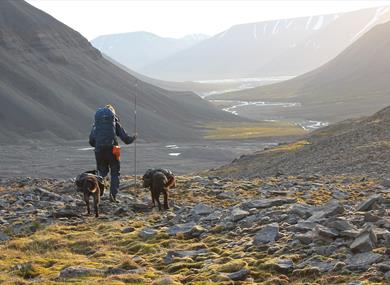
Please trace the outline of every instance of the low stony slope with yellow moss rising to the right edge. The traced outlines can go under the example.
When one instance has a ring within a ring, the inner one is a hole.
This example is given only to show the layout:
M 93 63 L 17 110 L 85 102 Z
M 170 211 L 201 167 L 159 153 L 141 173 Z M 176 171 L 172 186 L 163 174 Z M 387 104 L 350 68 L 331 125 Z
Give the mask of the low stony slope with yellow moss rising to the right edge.
M 344 121 L 300 141 L 245 155 L 208 172 L 230 177 L 364 175 L 388 177 L 390 107 L 368 118 Z

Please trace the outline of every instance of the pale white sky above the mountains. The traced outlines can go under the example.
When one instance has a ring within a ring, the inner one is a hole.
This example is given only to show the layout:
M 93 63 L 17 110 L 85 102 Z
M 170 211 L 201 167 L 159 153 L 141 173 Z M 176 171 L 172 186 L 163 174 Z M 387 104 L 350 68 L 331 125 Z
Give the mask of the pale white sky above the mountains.
M 0 0 L 1 1 L 1 0 Z M 89 40 L 148 31 L 164 37 L 214 35 L 232 25 L 390 6 L 390 1 L 27 0 Z

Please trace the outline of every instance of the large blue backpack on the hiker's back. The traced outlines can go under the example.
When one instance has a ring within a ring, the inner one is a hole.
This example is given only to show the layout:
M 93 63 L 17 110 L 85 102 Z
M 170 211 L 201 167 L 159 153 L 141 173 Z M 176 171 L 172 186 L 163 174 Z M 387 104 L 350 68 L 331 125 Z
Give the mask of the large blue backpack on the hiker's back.
M 96 148 L 116 145 L 115 114 L 108 108 L 99 108 L 95 113 Z

